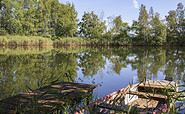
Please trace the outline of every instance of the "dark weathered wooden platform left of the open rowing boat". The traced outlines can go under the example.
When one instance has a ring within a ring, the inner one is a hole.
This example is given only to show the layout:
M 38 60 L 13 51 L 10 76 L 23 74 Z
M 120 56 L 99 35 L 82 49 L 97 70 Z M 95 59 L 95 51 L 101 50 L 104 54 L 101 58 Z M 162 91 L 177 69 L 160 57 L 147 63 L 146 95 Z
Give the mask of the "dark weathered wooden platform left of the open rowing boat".
M 59 82 L 0 100 L 0 113 L 51 112 L 69 102 L 80 102 L 97 85 Z

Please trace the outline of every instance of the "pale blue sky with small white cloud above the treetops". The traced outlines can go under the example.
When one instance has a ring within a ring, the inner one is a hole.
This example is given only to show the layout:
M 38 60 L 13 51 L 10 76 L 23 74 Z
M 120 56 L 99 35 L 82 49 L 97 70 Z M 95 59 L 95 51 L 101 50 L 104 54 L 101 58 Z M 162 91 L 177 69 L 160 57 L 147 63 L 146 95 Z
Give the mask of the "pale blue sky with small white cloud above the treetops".
M 132 23 L 137 20 L 139 7 L 141 4 L 146 5 L 149 11 L 153 7 L 155 12 L 161 14 L 164 18 L 170 10 L 175 10 L 178 3 L 185 5 L 185 0 L 59 0 L 61 3 L 74 3 L 78 12 L 78 19 L 81 19 L 84 11 L 94 11 L 96 14 L 104 12 L 104 19 L 108 16 L 121 15 L 124 22 Z

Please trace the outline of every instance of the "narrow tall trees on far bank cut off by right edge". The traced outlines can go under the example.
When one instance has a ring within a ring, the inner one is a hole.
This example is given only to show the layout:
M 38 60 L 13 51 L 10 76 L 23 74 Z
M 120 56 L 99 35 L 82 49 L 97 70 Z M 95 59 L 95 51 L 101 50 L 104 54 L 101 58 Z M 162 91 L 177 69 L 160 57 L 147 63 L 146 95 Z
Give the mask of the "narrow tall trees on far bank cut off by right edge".
M 185 15 L 184 5 L 179 3 L 176 10 L 168 12 L 167 21 L 167 43 L 184 45 L 185 43 Z

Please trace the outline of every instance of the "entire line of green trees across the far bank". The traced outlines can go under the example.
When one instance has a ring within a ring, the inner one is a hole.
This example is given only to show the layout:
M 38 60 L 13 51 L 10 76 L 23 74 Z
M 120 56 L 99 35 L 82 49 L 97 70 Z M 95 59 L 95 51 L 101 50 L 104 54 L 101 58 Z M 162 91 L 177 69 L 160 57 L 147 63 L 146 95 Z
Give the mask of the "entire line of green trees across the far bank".
M 52 39 L 85 37 L 110 45 L 185 45 L 185 8 L 182 3 L 164 18 L 145 5 L 132 25 L 121 16 L 106 21 L 92 12 L 82 20 L 74 4 L 58 0 L 3 0 L 0 4 L 0 35 L 44 36 Z

